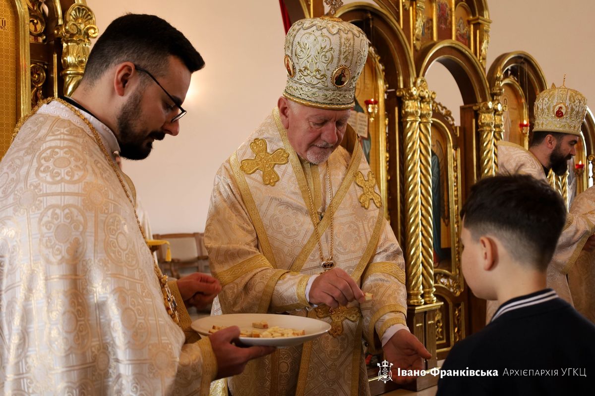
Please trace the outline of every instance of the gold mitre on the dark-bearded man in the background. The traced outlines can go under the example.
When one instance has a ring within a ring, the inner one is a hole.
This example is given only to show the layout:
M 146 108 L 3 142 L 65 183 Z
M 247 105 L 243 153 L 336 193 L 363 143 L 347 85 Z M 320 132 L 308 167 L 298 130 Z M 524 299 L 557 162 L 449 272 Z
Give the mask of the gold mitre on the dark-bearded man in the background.
M 534 106 L 533 132 L 560 132 L 581 134 L 581 125 L 587 114 L 587 98 L 577 90 L 552 84 L 549 90 L 537 95 Z

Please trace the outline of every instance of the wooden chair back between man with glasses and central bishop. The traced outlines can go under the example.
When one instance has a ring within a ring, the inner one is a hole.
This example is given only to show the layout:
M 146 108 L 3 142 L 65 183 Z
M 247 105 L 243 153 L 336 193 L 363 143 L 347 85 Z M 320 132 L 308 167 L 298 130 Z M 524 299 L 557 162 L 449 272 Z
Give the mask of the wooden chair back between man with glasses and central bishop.
M 170 242 L 171 262 L 165 261 L 167 246 L 162 245 L 157 249 L 157 262 L 161 271 L 167 268 L 170 275 L 180 278 L 180 270 L 192 269 L 209 274 L 209 256 L 206 254 L 203 233 L 180 233 L 180 234 L 154 234 L 154 239 L 164 239 Z

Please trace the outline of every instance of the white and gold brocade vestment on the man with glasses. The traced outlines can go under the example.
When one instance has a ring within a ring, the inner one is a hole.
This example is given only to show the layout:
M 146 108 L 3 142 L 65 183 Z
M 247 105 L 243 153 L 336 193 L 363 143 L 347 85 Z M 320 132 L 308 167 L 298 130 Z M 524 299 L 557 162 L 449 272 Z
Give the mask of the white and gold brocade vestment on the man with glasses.
M 43 104 L 0 163 L 2 394 L 208 395 L 210 341 L 185 344 L 165 311 L 133 205 L 82 117 Z

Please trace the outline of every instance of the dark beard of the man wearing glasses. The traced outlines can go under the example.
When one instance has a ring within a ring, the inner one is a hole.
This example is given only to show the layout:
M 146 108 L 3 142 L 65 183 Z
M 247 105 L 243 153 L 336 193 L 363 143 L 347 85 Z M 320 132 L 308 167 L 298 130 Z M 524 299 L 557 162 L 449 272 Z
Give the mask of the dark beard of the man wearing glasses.
M 155 140 L 163 140 L 165 133 L 152 131 L 144 134 L 134 129 L 133 122 L 140 118 L 140 91 L 134 93 L 118 114 L 118 144 L 120 144 L 120 156 L 129 160 L 144 160 L 151 154 L 153 143 L 146 141 L 149 137 Z

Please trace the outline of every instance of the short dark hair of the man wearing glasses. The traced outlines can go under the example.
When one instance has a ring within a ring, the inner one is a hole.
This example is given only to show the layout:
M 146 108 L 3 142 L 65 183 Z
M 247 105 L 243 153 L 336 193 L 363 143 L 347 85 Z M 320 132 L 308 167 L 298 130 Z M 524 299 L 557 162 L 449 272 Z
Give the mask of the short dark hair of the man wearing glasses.
M 146 14 L 126 14 L 109 24 L 89 55 L 83 81 L 95 83 L 112 65 L 133 62 L 153 75 L 164 75 L 169 56 L 193 73 L 205 66 L 188 39 L 167 21 Z

